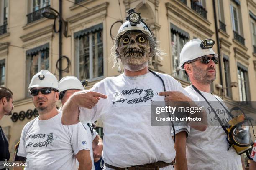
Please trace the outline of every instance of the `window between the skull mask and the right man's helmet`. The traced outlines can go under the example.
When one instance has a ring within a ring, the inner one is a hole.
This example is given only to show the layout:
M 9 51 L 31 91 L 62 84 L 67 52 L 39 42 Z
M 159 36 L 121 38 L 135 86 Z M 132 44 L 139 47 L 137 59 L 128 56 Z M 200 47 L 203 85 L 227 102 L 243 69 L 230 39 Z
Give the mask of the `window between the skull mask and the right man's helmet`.
M 189 35 L 187 32 L 180 30 L 175 25 L 171 24 L 171 45 L 172 45 L 172 75 L 180 80 L 188 81 L 185 72 L 179 69 L 179 55 L 186 44 Z

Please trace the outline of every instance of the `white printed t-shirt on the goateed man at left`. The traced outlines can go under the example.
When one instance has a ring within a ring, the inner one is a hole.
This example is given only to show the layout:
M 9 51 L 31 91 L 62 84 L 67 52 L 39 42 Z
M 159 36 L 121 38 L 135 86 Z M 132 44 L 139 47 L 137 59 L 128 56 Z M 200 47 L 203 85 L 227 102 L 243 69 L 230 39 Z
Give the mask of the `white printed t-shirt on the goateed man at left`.
M 21 133 L 18 156 L 26 157 L 25 170 L 74 170 L 75 155 L 89 150 L 88 137 L 81 123 L 64 126 L 61 112 L 48 120 L 36 117 Z

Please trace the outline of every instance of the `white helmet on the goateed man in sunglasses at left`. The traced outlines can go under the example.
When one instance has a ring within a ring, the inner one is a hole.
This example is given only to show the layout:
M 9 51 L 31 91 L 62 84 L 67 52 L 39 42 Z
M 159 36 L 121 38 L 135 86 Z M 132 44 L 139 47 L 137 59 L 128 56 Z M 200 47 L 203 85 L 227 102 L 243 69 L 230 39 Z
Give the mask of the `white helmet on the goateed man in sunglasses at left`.
M 49 87 L 59 91 L 57 78 L 48 70 L 41 70 L 32 77 L 28 92 L 30 92 L 33 87 Z

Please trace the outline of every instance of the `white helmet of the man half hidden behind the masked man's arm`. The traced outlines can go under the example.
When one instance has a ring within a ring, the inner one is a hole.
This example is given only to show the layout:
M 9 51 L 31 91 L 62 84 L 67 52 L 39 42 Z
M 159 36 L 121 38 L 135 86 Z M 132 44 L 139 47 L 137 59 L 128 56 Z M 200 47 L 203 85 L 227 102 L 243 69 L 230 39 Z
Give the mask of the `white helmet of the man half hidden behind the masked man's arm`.
M 59 91 L 63 92 L 69 89 L 84 90 L 82 82 L 75 76 L 66 76 L 59 81 Z

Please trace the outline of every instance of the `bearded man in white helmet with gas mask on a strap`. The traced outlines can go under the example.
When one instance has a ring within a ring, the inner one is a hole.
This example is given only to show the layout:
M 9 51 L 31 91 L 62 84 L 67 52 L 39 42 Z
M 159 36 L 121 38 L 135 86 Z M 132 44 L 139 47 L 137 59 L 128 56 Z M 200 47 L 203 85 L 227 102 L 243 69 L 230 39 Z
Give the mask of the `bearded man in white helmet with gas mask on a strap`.
M 183 170 L 242 169 L 240 156 L 233 147 L 230 148 L 226 140 L 227 134 L 218 122 L 219 117 L 223 125 L 227 125 L 231 117 L 224 108 L 226 106 L 223 100 L 210 93 L 210 85 L 215 80 L 218 64 L 218 54 L 212 50 L 213 45 L 214 41 L 211 39 L 194 39 L 187 42 L 180 53 L 180 68 L 185 71 L 191 82 L 185 90 L 193 100 L 202 102 L 207 111 L 208 127 L 204 132 L 187 129 L 188 138 L 181 139 L 179 143 L 181 145 L 179 148 L 182 148 L 180 150 L 186 148 L 187 167 L 180 164 L 176 165 L 177 169 L 181 167 Z M 181 152 L 180 150 L 177 152 Z

